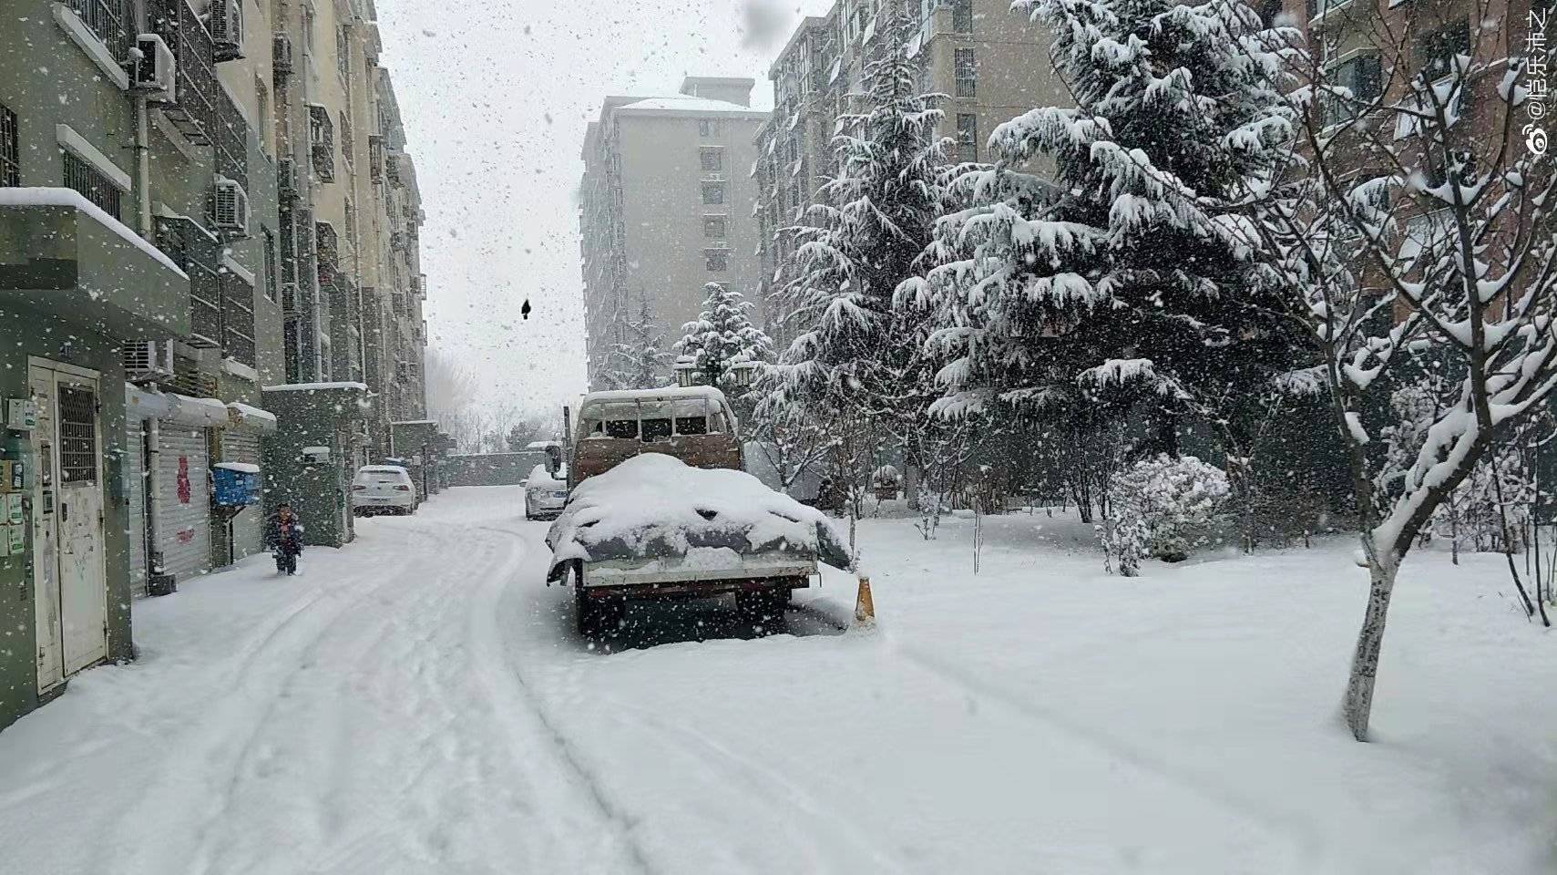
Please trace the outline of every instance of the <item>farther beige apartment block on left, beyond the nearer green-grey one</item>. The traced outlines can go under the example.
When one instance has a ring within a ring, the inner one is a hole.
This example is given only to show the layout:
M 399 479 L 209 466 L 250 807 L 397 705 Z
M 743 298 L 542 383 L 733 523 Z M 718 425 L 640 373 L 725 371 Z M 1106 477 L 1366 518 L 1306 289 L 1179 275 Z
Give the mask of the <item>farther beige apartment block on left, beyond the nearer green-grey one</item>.
M 286 378 L 266 399 L 308 428 L 286 430 L 271 458 L 311 497 L 310 539 L 343 543 L 352 472 L 392 456 L 391 423 L 425 413 L 424 213 L 372 3 L 283 0 L 279 16 Z

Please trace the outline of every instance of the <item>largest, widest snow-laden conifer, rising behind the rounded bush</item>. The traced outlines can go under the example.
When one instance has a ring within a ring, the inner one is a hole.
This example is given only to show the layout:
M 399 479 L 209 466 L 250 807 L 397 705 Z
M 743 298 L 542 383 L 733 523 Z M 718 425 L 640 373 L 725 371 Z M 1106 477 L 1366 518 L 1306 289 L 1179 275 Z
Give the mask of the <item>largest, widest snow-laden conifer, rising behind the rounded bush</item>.
M 903 288 L 939 310 L 937 409 L 1188 413 L 1239 456 L 1244 389 L 1294 367 L 1297 346 L 1247 282 L 1236 232 L 1291 139 L 1274 36 L 1238 0 L 1015 6 L 1056 34 L 1077 106 L 995 129 L 995 167 L 956 179 L 965 209 Z

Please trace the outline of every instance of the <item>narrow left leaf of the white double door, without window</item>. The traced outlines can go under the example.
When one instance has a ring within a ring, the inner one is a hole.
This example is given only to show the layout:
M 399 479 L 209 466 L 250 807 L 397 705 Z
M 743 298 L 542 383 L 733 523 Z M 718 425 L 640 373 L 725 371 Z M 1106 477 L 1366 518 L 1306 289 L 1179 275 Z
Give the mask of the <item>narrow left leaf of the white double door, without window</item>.
M 33 430 L 33 604 L 37 612 L 37 691 L 65 680 L 64 626 L 59 620 L 59 504 L 54 492 L 54 372 L 31 366 L 28 386 L 37 408 Z

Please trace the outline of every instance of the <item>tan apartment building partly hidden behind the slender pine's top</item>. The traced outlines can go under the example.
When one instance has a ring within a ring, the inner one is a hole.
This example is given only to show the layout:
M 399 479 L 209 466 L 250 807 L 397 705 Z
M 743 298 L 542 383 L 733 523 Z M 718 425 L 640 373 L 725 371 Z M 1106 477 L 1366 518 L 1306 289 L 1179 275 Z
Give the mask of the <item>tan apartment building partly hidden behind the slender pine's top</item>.
M 864 109 L 864 70 L 886 48 L 891 6 L 838 0 L 825 16 L 803 19 L 768 70 L 774 112 L 757 134 L 754 170 L 763 297 L 788 255 L 778 229 L 835 171 L 839 117 Z M 1007 0 L 922 0 L 905 9 L 917 25 L 908 50 L 920 65 L 920 92 L 945 95 L 940 134 L 956 142 L 953 160 L 987 160 L 995 126 L 1068 103 L 1046 59 L 1049 37 Z M 772 321 L 768 330 L 780 339 L 789 333 Z

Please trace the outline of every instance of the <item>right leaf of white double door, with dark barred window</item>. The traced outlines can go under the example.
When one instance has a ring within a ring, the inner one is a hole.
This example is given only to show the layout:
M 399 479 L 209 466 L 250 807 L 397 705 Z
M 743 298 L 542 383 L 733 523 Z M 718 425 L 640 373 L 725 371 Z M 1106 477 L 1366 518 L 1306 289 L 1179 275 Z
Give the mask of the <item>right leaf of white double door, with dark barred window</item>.
M 65 674 L 107 655 L 103 442 L 97 380 L 56 374 L 54 461 L 59 481 L 59 617 Z

